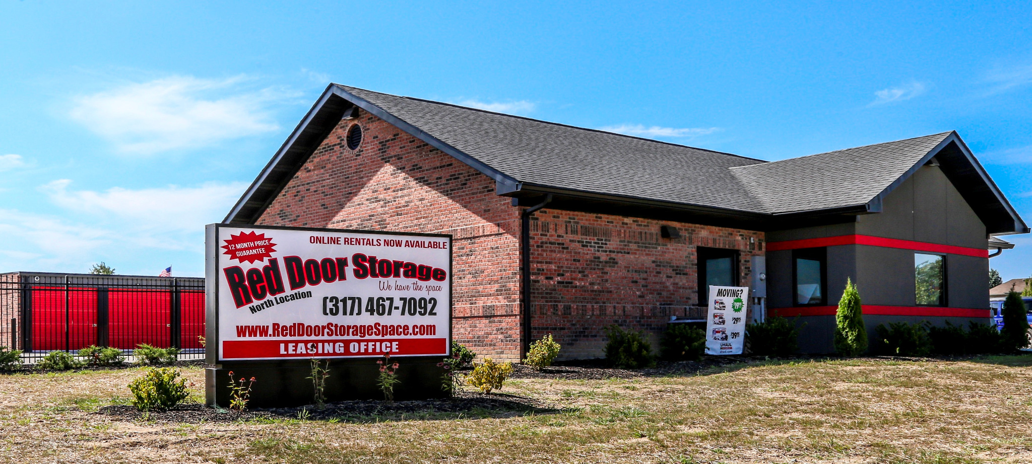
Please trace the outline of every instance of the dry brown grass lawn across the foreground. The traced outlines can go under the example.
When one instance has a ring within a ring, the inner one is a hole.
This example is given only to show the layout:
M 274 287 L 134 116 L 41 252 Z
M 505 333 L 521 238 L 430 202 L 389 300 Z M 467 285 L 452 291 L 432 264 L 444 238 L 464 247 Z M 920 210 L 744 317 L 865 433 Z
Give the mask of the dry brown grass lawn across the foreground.
M 526 378 L 504 393 L 562 412 L 194 425 L 91 413 L 125 401 L 135 369 L 4 375 L 0 460 L 1028 463 L 1030 366 L 1032 357 L 857 360 L 731 366 L 690 376 Z M 199 368 L 185 373 L 201 384 Z

